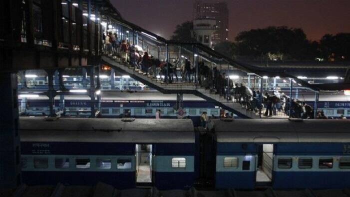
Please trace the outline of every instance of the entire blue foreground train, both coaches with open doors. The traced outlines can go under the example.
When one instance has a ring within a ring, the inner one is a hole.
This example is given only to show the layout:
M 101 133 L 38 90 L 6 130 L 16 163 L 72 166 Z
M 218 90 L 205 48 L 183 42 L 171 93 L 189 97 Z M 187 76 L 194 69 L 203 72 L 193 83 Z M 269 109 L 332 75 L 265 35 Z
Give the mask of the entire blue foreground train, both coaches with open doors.
M 21 117 L 22 180 L 116 188 L 345 188 L 350 121 Z

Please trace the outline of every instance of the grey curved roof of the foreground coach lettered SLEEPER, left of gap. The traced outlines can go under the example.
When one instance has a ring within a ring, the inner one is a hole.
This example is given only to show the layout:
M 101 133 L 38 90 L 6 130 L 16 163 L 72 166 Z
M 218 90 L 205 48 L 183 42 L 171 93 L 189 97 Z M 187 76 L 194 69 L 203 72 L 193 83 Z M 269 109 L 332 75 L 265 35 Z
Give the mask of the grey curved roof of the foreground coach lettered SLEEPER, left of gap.
M 21 141 L 194 143 L 191 119 L 19 119 Z

